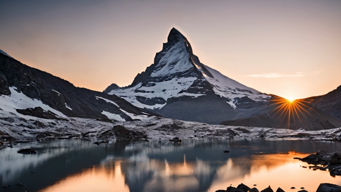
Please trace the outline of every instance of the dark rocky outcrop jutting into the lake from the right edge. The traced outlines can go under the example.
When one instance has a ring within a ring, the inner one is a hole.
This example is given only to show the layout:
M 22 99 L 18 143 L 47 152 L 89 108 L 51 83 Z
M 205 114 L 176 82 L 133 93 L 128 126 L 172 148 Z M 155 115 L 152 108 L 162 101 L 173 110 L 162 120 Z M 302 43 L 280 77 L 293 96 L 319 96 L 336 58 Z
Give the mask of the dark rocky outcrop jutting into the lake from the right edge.
M 316 154 L 296 159 L 314 165 L 309 166 L 309 169 L 314 171 L 328 169 L 331 176 L 341 176 L 341 152 L 328 153 L 327 150 L 319 150 Z

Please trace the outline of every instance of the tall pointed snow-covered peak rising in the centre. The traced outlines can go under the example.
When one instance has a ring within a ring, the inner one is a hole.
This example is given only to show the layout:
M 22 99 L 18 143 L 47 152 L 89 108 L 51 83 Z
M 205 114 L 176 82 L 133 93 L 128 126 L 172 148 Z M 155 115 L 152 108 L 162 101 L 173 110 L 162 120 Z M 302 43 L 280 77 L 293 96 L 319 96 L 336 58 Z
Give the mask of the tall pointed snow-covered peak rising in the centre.
M 233 119 L 240 109 L 265 106 L 271 98 L 202 64 L 175 28 L 154 63 L 131 85 L 104 92 L 168 118 L 214 124 Z

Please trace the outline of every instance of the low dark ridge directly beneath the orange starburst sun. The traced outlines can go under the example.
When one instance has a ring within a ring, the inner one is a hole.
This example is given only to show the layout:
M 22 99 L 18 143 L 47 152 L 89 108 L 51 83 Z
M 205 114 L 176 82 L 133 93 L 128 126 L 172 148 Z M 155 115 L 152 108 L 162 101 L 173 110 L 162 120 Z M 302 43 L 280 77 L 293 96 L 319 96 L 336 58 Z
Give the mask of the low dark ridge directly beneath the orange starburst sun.
M 271 105 L 254 109 L 237 120 L 221 122 L 221 125 L 267 127 L 278 129 L 305 129 L 306 131 L 341 127 L 341 120 L 307 104 L 304 100 L 287 101 L 274 96 Z

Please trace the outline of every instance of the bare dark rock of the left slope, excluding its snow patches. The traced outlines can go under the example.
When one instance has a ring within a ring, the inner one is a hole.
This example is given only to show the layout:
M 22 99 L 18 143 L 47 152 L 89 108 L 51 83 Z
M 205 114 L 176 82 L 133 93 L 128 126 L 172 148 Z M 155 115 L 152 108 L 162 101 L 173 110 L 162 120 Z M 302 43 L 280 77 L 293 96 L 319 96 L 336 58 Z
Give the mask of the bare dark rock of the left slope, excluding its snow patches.
M 102 112 L 118 114 L 125 120 L 132 120 L 132 118 L 122 110 L 136 115 L 145 115 L 143 112 L 148 112 L 116 95 L 75 87 L 64 79 L 0 54 L 0 94 L 9 95 L 9 87 L 15 87 L 15 91 L 22 92 L 31 99 L 40 100 L 68 117 L 92 118 L 109 122 L 111 120 Z M 112 85 L 112 87 L 115 86 Z M 99 97 L 113 101 L 118 106 Z M 42 112 L 39 108 L 19 109 L 18 111 L 24 115 L 55 118 L 50 112 Z

